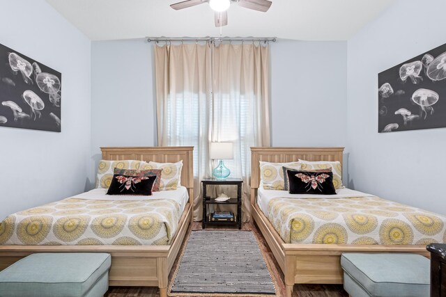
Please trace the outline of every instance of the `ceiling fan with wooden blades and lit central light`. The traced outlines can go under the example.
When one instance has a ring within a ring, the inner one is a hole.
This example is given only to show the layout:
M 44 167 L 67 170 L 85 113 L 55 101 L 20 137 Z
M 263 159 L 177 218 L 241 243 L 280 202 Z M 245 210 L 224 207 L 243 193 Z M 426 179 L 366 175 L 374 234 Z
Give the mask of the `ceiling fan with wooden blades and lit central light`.
M 238 3 L 238 6 L 261 11 L 263 13 L 266 13 L 272 4 L 272 2 L 268 0 L 186 0 L 171 4 L 170 7 L 174 8 L 174 10 L 180 10 L 203 3 L 209 3 L 210 8 L 215 11 L 215 26 L 221 27 L 228 24 L 228 9 L 233 2 Z

